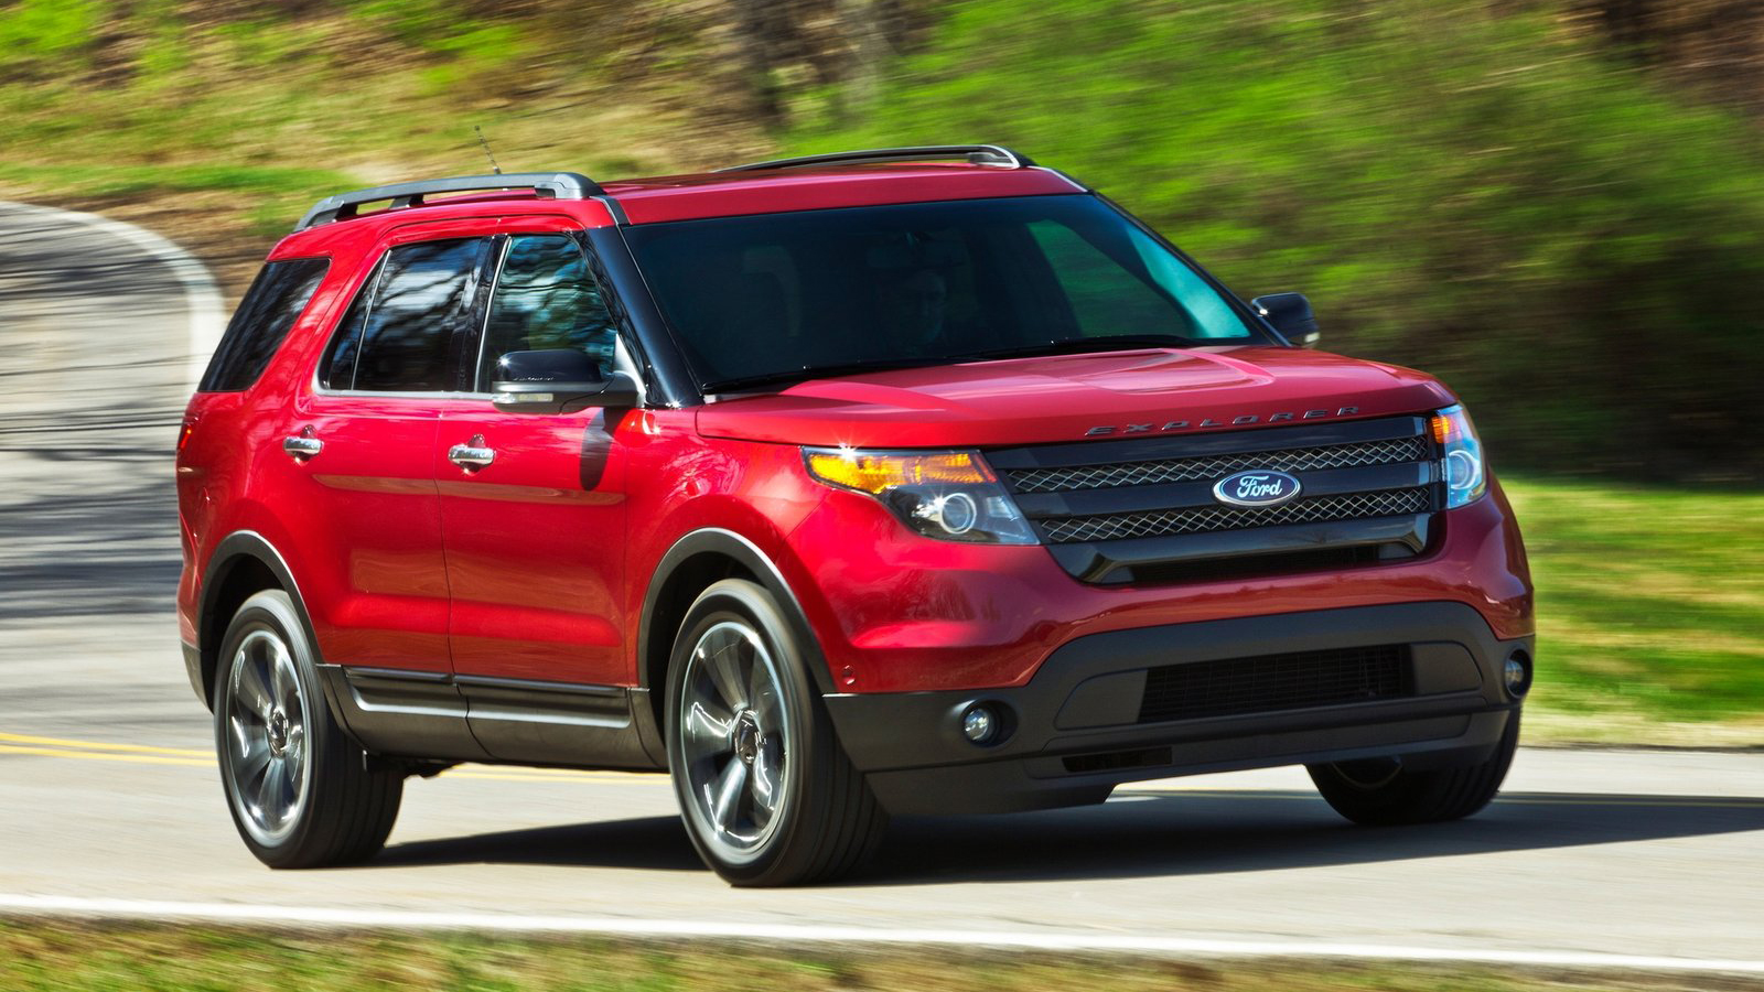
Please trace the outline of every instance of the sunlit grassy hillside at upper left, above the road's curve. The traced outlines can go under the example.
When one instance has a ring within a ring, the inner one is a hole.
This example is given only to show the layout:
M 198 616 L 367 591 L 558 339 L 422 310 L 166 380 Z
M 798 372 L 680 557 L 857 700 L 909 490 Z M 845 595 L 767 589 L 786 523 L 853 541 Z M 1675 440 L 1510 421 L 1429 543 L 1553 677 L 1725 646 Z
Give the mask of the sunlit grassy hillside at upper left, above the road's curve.
M 773 148 L 716 18 L 617 4 L 0 5 L 0 198 L 157 228 L 236 295 L 314 199 L 420 175 L 653 175 Z

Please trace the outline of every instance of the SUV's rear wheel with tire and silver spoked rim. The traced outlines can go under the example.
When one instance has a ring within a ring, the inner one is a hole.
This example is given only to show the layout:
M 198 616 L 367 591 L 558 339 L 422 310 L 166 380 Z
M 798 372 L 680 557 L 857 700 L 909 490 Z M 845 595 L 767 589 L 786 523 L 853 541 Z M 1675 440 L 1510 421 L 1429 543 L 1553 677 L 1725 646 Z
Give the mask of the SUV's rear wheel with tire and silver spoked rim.
M 226 805 L 259 861 L 348 865 L 386 844 L 404 775 L 369 770 L 332 718 L 288 593 L 265 590 L 238 607 L 220 639 L 213 692 Z

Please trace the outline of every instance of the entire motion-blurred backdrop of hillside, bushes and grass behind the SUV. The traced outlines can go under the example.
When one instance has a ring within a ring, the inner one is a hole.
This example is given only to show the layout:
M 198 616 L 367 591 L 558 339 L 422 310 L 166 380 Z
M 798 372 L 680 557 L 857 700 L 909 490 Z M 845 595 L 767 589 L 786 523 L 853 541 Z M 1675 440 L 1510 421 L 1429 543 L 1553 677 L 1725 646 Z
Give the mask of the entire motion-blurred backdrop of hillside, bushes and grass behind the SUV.
M 1757 0 L 0 0 L 0 198 L 233 295 L 319 196 L 485 171 L 473 125 L 602 178 L 1014 145 L 1461 392 L 1533 740 L 1764 725 Z

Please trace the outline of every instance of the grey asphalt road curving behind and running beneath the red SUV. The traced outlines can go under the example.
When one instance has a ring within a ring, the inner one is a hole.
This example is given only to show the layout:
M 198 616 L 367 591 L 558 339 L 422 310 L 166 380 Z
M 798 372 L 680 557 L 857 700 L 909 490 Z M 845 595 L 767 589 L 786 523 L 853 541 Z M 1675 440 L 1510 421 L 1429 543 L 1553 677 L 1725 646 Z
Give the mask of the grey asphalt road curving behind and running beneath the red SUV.
M 383 856 L 272 872 L 176 648 L 187 293 L 0 207 L 0 909 L 42 897 L 1764 960 L 1764 754 L 1535 750 L 1482 815 L 1360 830 L 1298 770 L 894 824 L 850 883 L 732 890 L 660 777 L 413 780 Z M 1545 669 L 1540 676 L 1547 680 Z M 1764 969 L 1764 964 L 1759 966 Z

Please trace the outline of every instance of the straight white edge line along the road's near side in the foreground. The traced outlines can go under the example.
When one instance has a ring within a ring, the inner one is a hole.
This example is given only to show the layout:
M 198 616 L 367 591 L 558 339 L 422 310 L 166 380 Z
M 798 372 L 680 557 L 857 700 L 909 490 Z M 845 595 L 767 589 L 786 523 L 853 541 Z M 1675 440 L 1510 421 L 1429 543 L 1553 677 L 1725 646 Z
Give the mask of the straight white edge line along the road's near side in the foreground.
M 1438 964 L 1764 974 L 1764 960 L 1612 955 L 1596 951 L 1508 951 L 1478 948 L 1418 948 L 1401 944 L 1330 944 L 1305 941 L 1214 941 L 1198 937 L 1152 937 L 1076 930 L 889 930 L 880 927 L 815 927 L 797 923 L 314 909 L 231 902 L 74 898 L 56 895 L 0 895 L 0 913 L 19 916 L 76 916 L 106 920 L 266 923 L 275 927 L 379 927 L 397 930 L 594 934 L 605 937 L 709 937 L 787 944 L 940 944 L 972 950 L 1127 951 L 1208 958 L 1371 958 Z

